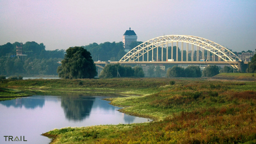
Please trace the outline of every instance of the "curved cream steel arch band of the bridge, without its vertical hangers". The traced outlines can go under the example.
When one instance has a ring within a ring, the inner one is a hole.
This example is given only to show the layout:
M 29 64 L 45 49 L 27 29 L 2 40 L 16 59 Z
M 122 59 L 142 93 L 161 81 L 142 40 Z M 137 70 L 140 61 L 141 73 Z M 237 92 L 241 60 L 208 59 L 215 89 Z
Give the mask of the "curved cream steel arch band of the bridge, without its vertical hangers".
M 139 61 L 139 58 L 144 56 L 144 54 L 148 53 L 149 51 L 154 51 L 155 48 L 159 47 L 159 44 L 163 47 L 163 45 L 167 45 L 171 42 L 185 42 L 189 44 L 193 44 L 194 46 L 201 47 L 210 53 L 215 54 L 220 59 L 223 59 L 225 62 L 235 62 L 237 59 L 238 61 L 242 61 L 237 55 L 235 55 L 229 49 L 221 46 L 218 43 L 210 41 L 209 39 L 196 37 L 196 36 L 188 36 L 188 35 L 168 35 L 168 36 L 161 36 L 152 38 L 149 41 L 141 43 L 140 45 L 136 46 L 135 48 L 131 49 L 128 53 L 125 54 L 124 57 L 120 59 L 120 62 L 125 61 Z M 147 57 L 149 57 L 147 55 Z M 144 61 L 144 58 L 142 58 Z M 162 59 L 163 61 L 163 59 Z M 232 67 L 238 69 L 237 64 L 230 64 Z

